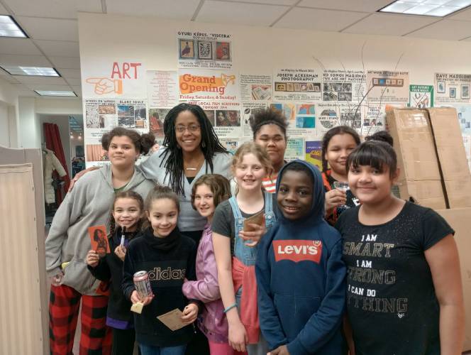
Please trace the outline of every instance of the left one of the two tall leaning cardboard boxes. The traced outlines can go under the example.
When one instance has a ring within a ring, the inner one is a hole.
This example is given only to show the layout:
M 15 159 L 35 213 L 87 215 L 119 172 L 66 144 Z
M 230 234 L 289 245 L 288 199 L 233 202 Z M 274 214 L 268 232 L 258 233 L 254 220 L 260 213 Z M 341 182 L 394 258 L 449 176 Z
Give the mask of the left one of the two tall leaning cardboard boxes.
M 387 111 L 387 124 L 394 138 L 394 150 L 401 170 L 398 181 L 401 198 L 409 200 L 413 197 L 423 206 L 445 209 L 445 195 L 427 111 L 392 108 Z

